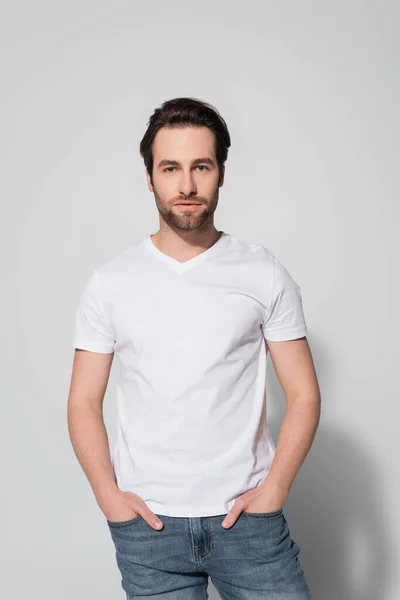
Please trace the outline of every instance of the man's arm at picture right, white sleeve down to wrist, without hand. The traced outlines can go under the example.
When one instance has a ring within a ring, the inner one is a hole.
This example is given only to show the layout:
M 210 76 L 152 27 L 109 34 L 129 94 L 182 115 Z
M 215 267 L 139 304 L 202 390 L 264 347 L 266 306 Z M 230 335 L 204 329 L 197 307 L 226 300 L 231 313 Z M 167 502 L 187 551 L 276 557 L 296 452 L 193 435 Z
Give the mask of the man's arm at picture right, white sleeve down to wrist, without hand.
M 279 507 L 311 447 L 320 418 L 321 398 L 307 340 L 301 290 L 275 256 L 271 301 L 263 330 L 287 410 L 271 468 L 258 488 L 265 491 L 264 504 L 268 491 L 268 503 Z

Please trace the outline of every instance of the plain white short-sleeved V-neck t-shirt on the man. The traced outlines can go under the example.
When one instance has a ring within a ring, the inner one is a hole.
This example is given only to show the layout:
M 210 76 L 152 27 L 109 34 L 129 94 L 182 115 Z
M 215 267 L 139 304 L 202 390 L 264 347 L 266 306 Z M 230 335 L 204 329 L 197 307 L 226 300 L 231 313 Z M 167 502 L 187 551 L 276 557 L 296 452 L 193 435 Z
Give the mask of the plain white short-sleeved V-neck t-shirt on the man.
M 183 263 L 148 235 L 94 269 L 73 346 L 119 359 L 119 489 L 160 515 L 228 512 L 275 454 L 264 337 L 306 335 L 300 287 L 285 267 L 225 232 Z

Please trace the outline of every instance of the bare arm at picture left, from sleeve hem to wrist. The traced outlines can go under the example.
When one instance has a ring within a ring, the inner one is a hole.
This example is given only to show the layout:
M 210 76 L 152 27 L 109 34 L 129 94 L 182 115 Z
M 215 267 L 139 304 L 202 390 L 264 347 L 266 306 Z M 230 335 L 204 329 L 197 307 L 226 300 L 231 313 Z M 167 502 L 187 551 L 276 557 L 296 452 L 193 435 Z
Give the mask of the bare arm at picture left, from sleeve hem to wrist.
M 103 400 L 113 357 L 113 353 L 76 349 L 68 396 L 72 446 L 103 510 L 118 491 L 103 421 Z

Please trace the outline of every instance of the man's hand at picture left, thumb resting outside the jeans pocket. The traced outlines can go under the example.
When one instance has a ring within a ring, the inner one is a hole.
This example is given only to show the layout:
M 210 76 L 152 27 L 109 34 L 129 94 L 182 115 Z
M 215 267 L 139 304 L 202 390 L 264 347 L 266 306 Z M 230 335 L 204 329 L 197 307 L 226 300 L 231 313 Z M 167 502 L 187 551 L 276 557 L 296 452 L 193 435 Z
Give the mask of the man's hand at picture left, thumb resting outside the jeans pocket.
M 141 515 L 153 529 L 161 529 L 163 526 L 163 523 L 142 498 L 132 492 L 117 490 L 112 496 L 108 497 L 107 503 L 100 505 L 100 508 L 109 521 L 129 521 Z

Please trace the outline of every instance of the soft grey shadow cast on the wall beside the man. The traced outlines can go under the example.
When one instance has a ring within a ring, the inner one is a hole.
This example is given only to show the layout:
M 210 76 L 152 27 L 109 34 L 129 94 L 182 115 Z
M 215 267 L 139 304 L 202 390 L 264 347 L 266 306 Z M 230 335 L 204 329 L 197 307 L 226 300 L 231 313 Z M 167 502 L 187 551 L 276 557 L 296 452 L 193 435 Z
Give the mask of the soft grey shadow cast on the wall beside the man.
M 269 379 L 267 410 L 279 404 L 280 412 L 268 419 L 276 444 L 285 399 L 275 373 Z M 301 549 L 312 600 L 384 600 L 396 566 L 379 465 L 348 433 L 324 423 L 323 403 L 322 397 L 317 434 L 285 502 L 285 517 Z

